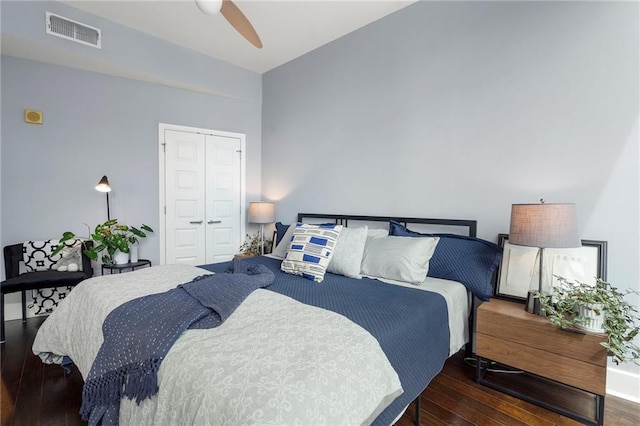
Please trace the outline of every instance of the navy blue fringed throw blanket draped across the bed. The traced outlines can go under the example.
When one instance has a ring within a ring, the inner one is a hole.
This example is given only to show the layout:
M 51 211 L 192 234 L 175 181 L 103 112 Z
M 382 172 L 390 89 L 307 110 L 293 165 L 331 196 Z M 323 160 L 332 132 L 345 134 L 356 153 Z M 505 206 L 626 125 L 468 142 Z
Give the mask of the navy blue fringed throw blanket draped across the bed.
M 139 404 L 158 392 L 160 364 L 185 330 L 219 326 L 254 290 L 274 280 L 264 265 L 244 261 L 234 260 L 226 272 L 130 300 L 107 315 L 104 342 L 82 390 L 84 420 L 117 425 L 122 397 Z

